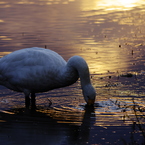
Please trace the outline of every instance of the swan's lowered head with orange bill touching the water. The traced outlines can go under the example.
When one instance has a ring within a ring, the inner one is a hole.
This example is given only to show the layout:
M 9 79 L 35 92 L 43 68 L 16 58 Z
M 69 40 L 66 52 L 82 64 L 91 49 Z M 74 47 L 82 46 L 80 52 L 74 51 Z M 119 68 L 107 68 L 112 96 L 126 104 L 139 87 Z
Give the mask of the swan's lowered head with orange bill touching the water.
M 96 91 L 94 87 L 91 84 L 89 84 L 89 85 L 85 85 L 82 88 L 82 90 L 83 90 L 84 99 L 87 102 L 87 105 L 93 105 L 96 98 Z

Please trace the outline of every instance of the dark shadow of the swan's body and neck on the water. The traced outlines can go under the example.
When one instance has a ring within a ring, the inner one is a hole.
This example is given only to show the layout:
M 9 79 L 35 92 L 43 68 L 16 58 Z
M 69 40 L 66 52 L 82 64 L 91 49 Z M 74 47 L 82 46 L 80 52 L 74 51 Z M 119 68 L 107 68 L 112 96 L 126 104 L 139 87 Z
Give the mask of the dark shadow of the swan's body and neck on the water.
M 65 121 L 58 123 L 61 118 L 53 119 L 55 116 L 48 116 L 42 110 L 24 110 L 0 112 L 0 144 L 88 144 L 93 108 L 85 109 L 81 126 L 63 123 Z

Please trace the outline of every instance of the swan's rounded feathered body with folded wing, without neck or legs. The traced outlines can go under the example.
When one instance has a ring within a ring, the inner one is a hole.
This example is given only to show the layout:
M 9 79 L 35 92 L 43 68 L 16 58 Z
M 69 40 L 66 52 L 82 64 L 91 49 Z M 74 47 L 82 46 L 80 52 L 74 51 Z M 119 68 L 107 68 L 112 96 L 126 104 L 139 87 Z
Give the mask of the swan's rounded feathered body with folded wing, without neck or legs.
M 0 83 L 44 91 L 53 85 L 65 65 L 59 54 L 48 49 L 18 50 L 0 59 Z

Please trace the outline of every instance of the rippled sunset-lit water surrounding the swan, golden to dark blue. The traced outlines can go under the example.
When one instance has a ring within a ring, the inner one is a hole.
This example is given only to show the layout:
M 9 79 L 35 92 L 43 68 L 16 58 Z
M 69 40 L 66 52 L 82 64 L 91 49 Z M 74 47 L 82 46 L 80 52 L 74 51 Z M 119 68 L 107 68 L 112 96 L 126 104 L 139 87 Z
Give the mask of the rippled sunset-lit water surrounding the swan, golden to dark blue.
M 144 8 L 143 0 L 2 0 L 0 56 L 34 46 L 80 55 L 97 98 L 85 108 L 78 81 L 38 94 L 27 114 L 23 94 L 0 87 L 0 144 L 144 143 Z

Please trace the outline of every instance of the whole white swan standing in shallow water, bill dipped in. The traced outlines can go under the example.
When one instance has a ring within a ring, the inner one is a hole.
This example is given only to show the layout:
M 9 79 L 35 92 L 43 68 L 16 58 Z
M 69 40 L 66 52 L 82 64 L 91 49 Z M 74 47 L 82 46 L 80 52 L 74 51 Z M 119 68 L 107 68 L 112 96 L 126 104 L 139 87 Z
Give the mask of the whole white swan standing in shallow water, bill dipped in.
M 96 92 L 90 82 L 86 61 L 80 56 L 66 62 L 56 52 L 44 48 L 26 48 L 12 52 L 0 59 L 0 85 L 17 92 L 24 92 L 25 105 L 35 106 L 35 93 L 65 87 L 78 78 L 85 101 L 95 101 Z

